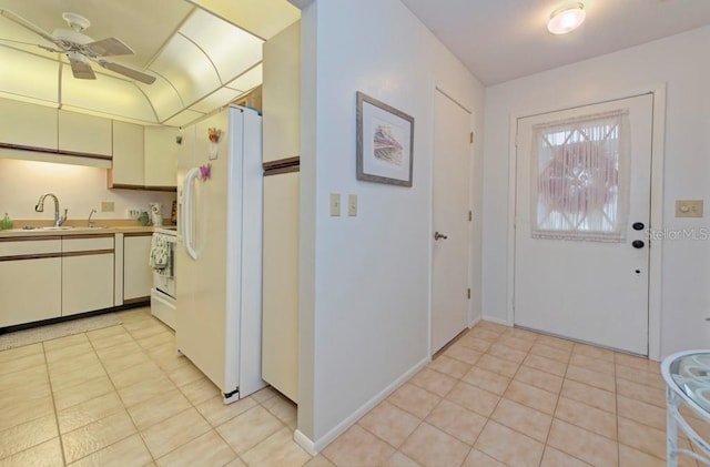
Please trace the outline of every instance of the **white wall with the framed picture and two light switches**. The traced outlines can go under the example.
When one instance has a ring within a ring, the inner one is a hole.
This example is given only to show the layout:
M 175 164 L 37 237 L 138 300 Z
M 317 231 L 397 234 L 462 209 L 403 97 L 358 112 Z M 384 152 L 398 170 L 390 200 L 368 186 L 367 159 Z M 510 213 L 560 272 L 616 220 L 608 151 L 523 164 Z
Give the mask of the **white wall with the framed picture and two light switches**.
M 428 359 L 434 87 L 478 130 L 484 91 L 398 0 L 315 1 L 302 23 L 298 430 L 320 449 Z M 413 187 L 355 180 L 356 91 L 415 118 Z

